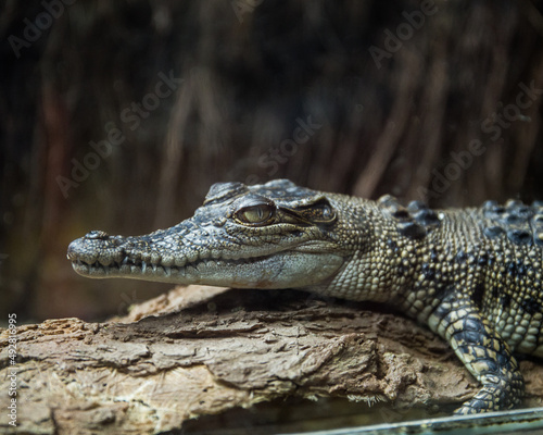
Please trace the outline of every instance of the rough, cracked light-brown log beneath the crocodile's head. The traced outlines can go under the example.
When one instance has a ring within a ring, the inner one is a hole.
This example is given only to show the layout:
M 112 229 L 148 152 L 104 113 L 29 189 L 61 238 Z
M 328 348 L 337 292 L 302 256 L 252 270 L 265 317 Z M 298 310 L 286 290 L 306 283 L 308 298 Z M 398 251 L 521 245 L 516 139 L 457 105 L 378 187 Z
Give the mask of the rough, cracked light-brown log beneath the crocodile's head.
M 290 413 L 301 407 L 298 419 L 314 421 L 349 409 L 364 421 L 368 415 L 390 421 L 406 418 L 413 408 L 450 411 L 476 391 L 445 343 L 376 308 L 293 290 L 178 287 L 108 323 L 60 319 L 20 326 L 14 366 L 2 331 L 0 382 L 7 391 L 7 375 L 15 368 L 18 425 L 13 428 L 2 418 L 0 430 L 247 433 L 225 425 L 247 425 L 255 415 L 237 423 L 205 415 L 241 415 L 241 408 L 254 407 L 273 420 L 269 409 L 286 414 L 292 408 L 274 399 L 324 397 L 348 398 L 351 405 L 299 400 Z M 521 366 L 526 405 L 541 406 L 543 364 L 522 361 Z M 2 410 L 7 399 L 0 397 Z M 269 401 L 267 411 L 256 406 Z

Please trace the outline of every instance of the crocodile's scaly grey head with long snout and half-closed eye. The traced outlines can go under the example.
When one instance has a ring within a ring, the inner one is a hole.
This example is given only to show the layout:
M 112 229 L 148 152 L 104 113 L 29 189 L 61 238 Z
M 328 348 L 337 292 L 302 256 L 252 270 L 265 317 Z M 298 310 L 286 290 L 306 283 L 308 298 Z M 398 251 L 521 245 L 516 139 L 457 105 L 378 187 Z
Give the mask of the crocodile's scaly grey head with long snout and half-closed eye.
M 337 195 L 287 179 L 219 183 L 181 223 L 139 237 L 94 231 L 67 251 L 74 270 L 96 278 L 127 277 L 238 288 L 320 285 L 352 256 Z

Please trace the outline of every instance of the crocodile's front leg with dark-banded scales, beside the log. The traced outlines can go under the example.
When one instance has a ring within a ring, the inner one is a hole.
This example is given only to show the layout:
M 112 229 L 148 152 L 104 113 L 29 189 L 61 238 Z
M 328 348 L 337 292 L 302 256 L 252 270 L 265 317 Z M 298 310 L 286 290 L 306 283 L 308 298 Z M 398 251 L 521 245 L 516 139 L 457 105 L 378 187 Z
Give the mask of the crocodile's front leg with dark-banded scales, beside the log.
M 520 403 L 525 382 L 507 344 L 475 303 L 453 294 L 445 298 L 428 321 L 445 338 L 482 388 L 456 414 L 508 409 Z

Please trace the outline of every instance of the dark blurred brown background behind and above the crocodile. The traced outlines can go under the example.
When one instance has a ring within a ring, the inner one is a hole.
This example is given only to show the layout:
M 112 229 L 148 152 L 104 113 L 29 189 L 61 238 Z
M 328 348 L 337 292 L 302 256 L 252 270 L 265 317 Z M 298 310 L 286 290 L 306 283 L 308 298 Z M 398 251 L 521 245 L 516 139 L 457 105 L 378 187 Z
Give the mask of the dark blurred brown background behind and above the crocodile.
M 73 272 L 71 240 L 288 177 L 434 207 L 543 199 L 543 2 L 7 0 L 1 315 L 102 320 L 172 286 Z

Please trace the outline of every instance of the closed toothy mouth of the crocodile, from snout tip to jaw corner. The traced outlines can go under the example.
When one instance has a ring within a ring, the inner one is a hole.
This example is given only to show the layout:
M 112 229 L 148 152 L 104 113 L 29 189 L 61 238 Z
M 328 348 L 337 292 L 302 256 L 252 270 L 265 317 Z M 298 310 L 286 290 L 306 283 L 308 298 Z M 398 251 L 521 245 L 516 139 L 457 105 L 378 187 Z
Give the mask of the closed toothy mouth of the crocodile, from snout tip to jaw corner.
M 175 256 L 173 249 L 165 248 L 166 243 L 156 240 L 156 234 L 154 238 L 135 240 L 91 232 L 70 244 L 67 258 L 76 273 L 90 278 L 238 288 L 305 286 L 328 277 L 343 262 L 341 254 L 330 253 L 333 244 L 327 240 L 248 245 L 243 251 L 216 244 L 194 245 L 185 249 L 182 256 Z

